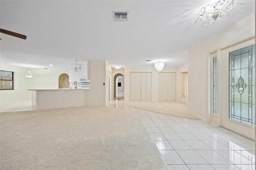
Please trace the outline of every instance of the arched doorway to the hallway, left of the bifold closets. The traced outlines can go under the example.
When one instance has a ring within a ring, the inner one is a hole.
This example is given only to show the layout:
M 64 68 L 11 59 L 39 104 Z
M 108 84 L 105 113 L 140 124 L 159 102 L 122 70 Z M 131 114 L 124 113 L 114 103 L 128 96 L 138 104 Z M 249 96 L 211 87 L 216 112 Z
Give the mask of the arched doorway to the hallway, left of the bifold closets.
M 114 76 L 114 98 L 124 98 L 124 76 L 118 73 Z

